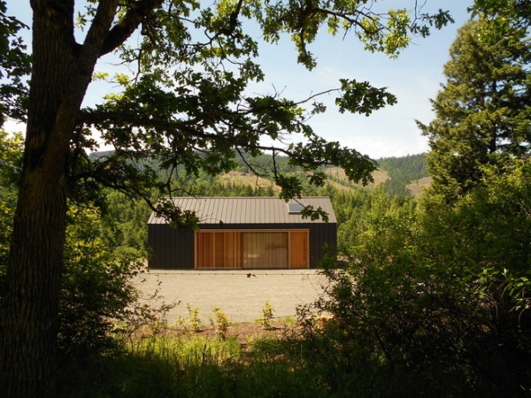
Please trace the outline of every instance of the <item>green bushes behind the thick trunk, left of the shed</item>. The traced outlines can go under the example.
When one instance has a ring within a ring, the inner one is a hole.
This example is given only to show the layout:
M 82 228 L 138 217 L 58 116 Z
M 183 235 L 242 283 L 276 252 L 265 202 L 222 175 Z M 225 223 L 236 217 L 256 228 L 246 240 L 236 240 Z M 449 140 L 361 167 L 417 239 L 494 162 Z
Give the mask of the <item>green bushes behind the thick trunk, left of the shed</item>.
M 16 181 L 22 163 L 22 138 L 19 134 L 0 134 L 0 275 L 4 283 L 9 254 L 12 217 L 16 203 Z M 99 210 L 71 206 L 68 214 L 63 272 L 59 302 L 58 349 L 63 357 L 93 355 L 116 348 L 112 329 L 116 322 L 129 320 L 138 292 L 132 278 L 142 269 L 145 256 L 146 214 L 130 202 L 119 206 L 110 196 L 108 217 Z M 132 217 L 127 210 L 136 214 Z M 127 233 L 141 231 L 136 239 Z

